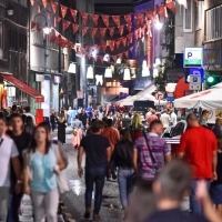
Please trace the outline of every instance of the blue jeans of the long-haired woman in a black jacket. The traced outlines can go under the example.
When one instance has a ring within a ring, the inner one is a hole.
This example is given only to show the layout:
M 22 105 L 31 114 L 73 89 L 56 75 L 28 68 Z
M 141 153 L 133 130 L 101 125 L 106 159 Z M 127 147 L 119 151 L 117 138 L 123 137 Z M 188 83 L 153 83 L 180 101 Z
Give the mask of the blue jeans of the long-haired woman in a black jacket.
M 128 196 L 133 189 L 133 169 L 120 169 L 118 171 L 118 183 L 120 189 L 120 201 L 124 209 L 128 208 Z

